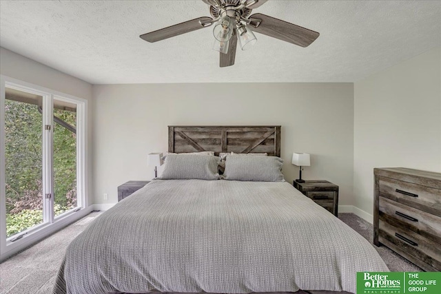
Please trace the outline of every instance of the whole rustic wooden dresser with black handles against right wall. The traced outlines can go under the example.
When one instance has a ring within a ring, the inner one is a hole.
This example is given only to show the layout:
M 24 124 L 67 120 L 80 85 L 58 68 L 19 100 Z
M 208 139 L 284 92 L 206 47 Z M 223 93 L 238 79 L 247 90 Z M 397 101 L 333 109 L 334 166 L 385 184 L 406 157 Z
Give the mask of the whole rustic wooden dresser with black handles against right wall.
M 441 174 L 396 167 L 373 175 L 373 243 L 441 271 Z

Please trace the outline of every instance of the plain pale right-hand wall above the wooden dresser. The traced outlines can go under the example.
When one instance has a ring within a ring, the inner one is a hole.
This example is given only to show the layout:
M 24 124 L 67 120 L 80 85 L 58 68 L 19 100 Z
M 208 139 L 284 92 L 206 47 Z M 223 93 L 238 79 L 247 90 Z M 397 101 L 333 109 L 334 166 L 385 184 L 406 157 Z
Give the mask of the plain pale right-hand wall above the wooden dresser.
M 441 172 L 441 48 L 354 85 L 353 191 L 373 213 L 373 168 Z

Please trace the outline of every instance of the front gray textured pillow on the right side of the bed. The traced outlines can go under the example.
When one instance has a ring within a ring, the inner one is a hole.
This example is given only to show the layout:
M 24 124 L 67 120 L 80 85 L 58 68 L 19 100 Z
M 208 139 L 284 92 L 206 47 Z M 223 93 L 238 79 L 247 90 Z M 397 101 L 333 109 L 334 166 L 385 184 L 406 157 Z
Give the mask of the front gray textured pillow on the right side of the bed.
M 284 182 L 283 160 L 276 156 L 227 156 L 223 178 L 258 182 Z

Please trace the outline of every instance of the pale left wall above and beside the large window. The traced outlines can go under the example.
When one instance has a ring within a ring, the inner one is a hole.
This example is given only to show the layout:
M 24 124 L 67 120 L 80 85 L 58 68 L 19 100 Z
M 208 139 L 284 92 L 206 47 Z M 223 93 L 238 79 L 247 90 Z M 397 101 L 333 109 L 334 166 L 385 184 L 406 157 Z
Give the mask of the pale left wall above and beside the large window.
M 5 48 L 0 48 L 0 74 L 88 100 L 87 193 L 92 204 L 92 85 Z

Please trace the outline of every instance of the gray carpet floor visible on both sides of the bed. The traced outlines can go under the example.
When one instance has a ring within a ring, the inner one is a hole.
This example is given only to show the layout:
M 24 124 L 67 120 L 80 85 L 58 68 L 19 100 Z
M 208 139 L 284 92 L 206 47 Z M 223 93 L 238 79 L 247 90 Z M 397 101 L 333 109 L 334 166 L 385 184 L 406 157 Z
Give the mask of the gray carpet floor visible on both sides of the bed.
M 90 213 L 0 264 L 0 293 L 50 293 L 66 247 L 96 216 L 99 213 Z M 340 213 L 338 218 L 372 242 L 369 222 L 353 213 Z M 374 247 L 391 271 L 422 271 L 390 249 Z

